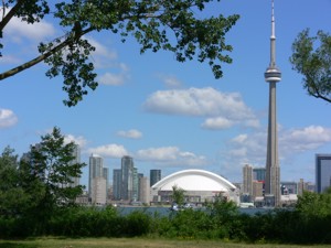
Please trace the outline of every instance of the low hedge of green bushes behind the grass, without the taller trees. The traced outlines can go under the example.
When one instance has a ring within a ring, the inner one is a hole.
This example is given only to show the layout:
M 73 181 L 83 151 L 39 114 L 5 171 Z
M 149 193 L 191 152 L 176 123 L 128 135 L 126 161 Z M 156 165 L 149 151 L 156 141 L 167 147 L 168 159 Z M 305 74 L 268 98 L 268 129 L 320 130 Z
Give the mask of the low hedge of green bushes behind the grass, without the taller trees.
M 313 193 L 308 193 L 302 201 Z M 329 209 L 330 212 L 330 209 Z M 121 215 L 115 207 L 65 207 L 42 224 L 31 216 L 0 217 L 0 238 L 163 237 L 221 239 L 241 242 L 331 244 L 331 215 L 300 209 L 241 214 L 233 203 L 218 201 L 206 209 L 183 209 L 169 216 L 143 211 Z

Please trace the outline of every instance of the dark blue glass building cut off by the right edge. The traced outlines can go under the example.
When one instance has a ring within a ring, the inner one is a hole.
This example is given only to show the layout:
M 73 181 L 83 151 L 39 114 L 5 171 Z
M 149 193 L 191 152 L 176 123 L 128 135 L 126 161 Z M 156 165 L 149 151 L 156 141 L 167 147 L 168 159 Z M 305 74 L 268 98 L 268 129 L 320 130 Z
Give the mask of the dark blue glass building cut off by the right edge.
M 316 192 L 331 187 L 331 154 L 316 154 Z

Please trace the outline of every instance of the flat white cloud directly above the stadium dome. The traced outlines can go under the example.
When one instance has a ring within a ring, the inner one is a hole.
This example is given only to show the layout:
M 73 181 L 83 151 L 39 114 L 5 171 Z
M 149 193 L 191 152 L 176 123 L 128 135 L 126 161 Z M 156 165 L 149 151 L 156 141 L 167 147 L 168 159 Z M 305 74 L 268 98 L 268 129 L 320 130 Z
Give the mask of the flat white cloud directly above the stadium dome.
M 182 152 L 177 147 L 149 148 L 137 151 L 137 159 L 163 163 L 164 165 L 199 166 L 206 164 L 206 158 L 192 152 Z

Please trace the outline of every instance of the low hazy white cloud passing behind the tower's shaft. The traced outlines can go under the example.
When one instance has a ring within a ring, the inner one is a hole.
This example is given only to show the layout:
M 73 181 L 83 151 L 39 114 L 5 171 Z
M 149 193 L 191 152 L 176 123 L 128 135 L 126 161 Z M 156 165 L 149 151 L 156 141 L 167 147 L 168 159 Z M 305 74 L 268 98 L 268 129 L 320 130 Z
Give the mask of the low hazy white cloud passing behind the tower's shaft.
M 278 132 L 278 155 L 281 164 L 291 163 L 295 157 L 309 152 L 312 155 L 322 145 L 331 143 L 331 129 L 309 126 Z M 226 143 L 221 152 L 223 166 L 241 170 L 244 163 L 264 166 L 267 154 L 267 131 L 242 133 Z M 286 161 L 286 162 L 285 162 Z M 226 165 L 227 164 L 227 165 Z

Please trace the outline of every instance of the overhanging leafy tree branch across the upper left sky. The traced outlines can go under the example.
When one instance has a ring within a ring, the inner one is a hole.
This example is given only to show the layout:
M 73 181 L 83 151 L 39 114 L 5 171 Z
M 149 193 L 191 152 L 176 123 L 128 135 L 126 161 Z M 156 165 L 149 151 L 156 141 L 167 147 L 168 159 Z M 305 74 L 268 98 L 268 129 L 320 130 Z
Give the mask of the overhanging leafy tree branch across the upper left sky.
M 85 35 L 100 31 L 118 34 L 122 42 L 131 34 L 140 44 L 140 53 L 166 50 L 173 52 L 179 62 L 194 57 L 201 63 L 207 61 L 215 77 L 220 78 L 221 64 L 232 63 L 227 54 L 232 46 L 225 43 L 225 34 L 239 17 L 199 18 L 196 13 L 211 1 L 71 0 L 56 1 L 54 6 L 46 0 L 2 1 L 4 14 L 0 21 L 0 39 L 14 17 L 33 24 L 52 14 L 64 33 L 52 42 L 41 42 L 39 56 L 1 73 L 0 79 L 45 62 L 50 65 L 46 76 L 63 76 L 63 90 L 68 94 L 64 104 L 75 106 L 88 88 L 94 90 L 98 85 L 93 61 L 89 60 L 95 47 Z M 2 44 L 0 48 L 3 48 Z

